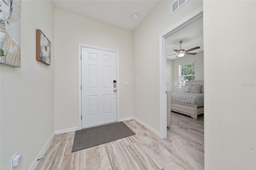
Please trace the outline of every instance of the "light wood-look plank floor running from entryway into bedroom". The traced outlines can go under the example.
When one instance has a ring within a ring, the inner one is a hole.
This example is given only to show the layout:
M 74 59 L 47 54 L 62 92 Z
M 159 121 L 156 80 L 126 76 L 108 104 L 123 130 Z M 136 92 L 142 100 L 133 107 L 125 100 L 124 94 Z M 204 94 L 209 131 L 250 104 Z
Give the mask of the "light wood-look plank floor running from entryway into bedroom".
M 75 132 L 57 134 L 36 170 L 204 169 L 204 115 L 194 120 L 173 113 L 168 138 L 161 139 L 134 120 L 136 135 L 71 152 Z

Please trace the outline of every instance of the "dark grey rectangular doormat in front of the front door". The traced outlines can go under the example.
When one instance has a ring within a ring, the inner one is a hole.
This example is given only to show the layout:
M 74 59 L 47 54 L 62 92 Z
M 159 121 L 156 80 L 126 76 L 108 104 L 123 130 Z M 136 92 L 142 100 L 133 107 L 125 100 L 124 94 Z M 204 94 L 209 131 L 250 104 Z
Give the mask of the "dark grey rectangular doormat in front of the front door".
M 135 133 L 123 122 L 77 130 L 72 152 L 132 136 L 134 134 Z

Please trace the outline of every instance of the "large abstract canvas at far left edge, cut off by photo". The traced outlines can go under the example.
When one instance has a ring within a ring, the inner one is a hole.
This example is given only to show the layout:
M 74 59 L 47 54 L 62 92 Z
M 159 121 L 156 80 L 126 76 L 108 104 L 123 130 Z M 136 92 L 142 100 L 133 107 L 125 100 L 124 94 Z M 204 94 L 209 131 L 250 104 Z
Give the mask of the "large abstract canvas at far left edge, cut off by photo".
M 0 0 L 0 63 L 20 67 L 20 0 Z

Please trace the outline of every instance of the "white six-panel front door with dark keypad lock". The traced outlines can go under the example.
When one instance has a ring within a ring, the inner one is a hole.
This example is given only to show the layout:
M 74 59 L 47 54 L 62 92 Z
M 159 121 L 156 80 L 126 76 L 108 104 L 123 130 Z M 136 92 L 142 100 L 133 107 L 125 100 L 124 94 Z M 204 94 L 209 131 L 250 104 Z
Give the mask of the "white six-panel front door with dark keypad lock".
M 116 52 L 82 47 L 82 128 L 117 121 Z

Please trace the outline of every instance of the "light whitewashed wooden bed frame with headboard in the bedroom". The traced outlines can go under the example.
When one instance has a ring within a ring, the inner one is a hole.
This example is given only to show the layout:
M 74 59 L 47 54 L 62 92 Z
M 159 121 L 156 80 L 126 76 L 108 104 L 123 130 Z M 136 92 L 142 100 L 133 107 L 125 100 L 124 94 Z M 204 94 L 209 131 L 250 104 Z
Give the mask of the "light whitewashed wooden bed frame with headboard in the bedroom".
M 204 81 L 186 81 L 187 85 L 204 85 Z M 181 103 L 170 101 L 171 93 L 167 93 L 167 125 L 170 126 L 170 111 L 175 111 L 178 113 L 182 113 L 184 115 L 191 116 L 193 119 L 197 119 L 197 115 L 204 113 L 204 107 L 197 107 L 197 105 L 192 105 L 188 103 Z

